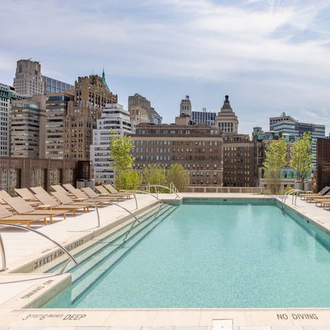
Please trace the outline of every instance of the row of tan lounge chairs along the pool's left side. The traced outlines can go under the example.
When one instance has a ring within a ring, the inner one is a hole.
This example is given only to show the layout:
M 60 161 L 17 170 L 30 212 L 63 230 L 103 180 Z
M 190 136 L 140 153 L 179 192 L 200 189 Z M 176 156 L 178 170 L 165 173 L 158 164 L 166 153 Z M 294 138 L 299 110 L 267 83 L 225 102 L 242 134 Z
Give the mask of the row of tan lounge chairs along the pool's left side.
M 116 192 L 109 185 L 111 191 L 103 186 L 98 186 L 99 194 L 91 188 L 74 188 L 71 184 L 54 185 L 50 195 L 42 187 L 15 189 L 19 197 L 12 197 L 5 190 L 0 191 L 0 222 L 26 223 L 30 227 L 33 221 L 43 220 L 47 225 L 47 219 L 53 222 L 53 217 L 63 216 L 72 212 L 76 216 L 78 210 L 88 212 L 89 208 L 96 205 L 104 206 L 113 201 L 123 201 L 131 198 L 129 193 Z M 12 210 L 12 213 L 10 210 Z

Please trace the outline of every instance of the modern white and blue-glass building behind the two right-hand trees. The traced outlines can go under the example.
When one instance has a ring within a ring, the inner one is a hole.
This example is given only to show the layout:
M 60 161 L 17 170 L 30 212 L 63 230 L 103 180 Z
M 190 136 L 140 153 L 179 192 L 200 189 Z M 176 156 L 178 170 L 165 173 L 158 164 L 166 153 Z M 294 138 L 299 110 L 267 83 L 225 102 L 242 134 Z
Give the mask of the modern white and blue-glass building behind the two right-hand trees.
M 316 144 L 318 139 L 325 137 L 325 125 L 298 122 L 298 120 L 283 113 L 281 117 L 270 118 L 270 129 L 271 131 L 297 137 L 303 137 L 305 132 L 311 132 L 311 153 L 314 155 L 314 169 L 316 168 Z

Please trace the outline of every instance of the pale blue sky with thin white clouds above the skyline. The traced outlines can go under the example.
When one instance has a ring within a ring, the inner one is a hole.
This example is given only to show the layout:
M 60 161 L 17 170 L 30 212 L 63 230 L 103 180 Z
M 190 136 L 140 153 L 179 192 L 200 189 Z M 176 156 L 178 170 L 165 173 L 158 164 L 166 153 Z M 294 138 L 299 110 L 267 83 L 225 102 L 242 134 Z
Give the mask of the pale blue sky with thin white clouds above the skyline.
M 186 95 L 215 112 L 229 95 L 239 133 L 283 112 L 329 133 L 329 0 L 8 0 L 0 12 L 0 83 L 19 59 L 72 84 L 104 67 L 125 109 L 141 94 L 164 123 Z

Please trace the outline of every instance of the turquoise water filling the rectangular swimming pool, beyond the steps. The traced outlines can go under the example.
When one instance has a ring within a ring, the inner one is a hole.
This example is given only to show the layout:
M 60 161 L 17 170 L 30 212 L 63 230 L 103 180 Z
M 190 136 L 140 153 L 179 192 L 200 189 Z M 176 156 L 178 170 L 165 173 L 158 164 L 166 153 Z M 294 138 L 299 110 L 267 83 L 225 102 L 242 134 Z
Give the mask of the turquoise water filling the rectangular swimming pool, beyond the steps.
M 274 203 L 188 201 L 71 307 L 330 307 L 330 253 L 310 228 Z

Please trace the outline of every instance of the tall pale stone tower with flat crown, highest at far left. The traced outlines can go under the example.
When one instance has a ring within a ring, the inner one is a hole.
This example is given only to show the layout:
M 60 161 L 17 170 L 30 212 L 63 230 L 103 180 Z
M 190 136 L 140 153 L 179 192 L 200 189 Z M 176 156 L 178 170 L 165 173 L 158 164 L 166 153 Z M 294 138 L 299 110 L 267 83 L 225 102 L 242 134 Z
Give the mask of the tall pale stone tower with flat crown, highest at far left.
M 39 62 L 30 59 L 17 61 L 14 89 L 23 96 L 43 94 L 44 81 Z

